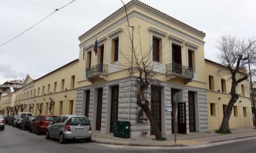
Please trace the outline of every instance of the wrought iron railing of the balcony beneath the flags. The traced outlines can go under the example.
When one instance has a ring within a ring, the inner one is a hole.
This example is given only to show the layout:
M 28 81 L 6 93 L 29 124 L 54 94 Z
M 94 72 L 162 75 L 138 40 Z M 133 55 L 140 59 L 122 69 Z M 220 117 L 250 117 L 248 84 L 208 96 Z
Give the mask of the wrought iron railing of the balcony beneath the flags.
M 97 64 L 91 68 L 86 68 L 86 78 L 94 77 L 101 74 L 108 74 L 107 64 Z

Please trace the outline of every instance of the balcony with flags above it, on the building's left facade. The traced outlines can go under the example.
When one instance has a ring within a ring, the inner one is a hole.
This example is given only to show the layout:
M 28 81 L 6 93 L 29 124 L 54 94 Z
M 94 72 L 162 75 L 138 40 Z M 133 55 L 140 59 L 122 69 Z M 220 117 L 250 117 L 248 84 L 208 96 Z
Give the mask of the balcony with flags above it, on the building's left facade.
M 86 78 L 92 80 L 94 78 L 102 78 L 106 80 L 106 75 L 108 74 L 107 64 L 97 64 L 91 68 L 86 68 Z

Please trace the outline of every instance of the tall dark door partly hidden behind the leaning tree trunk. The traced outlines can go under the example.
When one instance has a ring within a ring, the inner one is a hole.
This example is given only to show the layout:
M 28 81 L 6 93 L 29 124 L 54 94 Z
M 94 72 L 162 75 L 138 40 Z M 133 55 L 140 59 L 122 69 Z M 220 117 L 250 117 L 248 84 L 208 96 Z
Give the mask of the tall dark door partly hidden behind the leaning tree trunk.
M 161 131 L 161 88 L 159 86 L 151 86 L 151 112 L 157 121 L 159 130 Z M 152 127 L 150 128 L 150 134 L 154 135 Z

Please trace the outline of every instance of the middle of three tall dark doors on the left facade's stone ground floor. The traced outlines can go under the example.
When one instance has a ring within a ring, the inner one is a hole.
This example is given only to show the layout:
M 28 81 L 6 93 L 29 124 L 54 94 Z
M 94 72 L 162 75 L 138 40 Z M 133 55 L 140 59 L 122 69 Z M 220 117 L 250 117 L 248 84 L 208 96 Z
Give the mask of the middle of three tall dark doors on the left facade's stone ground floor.
M 102 89 L 98 89 L 96 130 L 101 130 Z

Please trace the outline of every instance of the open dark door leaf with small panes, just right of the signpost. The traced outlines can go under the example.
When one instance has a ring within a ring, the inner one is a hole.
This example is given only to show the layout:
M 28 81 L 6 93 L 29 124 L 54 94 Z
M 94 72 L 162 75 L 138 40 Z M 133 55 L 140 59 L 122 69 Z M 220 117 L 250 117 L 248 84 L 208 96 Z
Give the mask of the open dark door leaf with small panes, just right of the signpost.
M 187 134 L 186 103 L 178 103 L 178 133 Z

